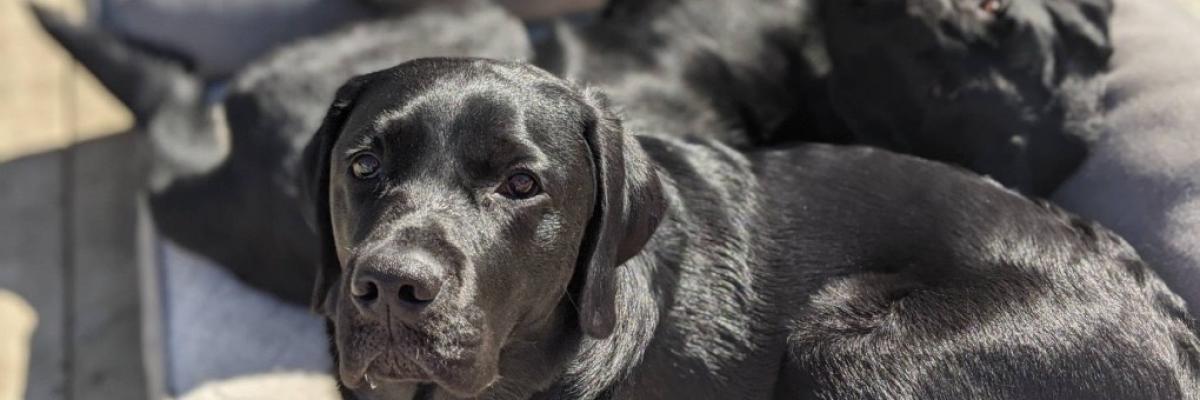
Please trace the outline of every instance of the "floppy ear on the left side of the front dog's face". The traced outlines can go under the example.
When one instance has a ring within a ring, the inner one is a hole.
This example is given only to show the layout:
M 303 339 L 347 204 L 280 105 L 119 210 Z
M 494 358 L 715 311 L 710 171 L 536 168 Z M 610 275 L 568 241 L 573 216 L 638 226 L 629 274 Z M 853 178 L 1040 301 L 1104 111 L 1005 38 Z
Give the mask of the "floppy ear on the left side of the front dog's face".
M 299 173 L 301 201 L 307 201 L 305 220 L 310 227 L 317 232 L 320 239 L 320 259 L 317 265 L 317 282 L 313 285 L 312 309 L 322 311 L 329 291 L 334 288 L 338 275 L 342 273 L 341 263 L 337 261 L 337 249 L 334 245 L 334 226 L 329 214 L 329 157 L 337 143 L 337 137 L 342 133 L 342 125 L 346 117 L 350 114 L 354 101 L 358 98 L 362 86 L 370 80 L 370 74 L 352 78 L 337 89 L 334 103 L 329 106 L 325 119 L 322 121 L 317 133 L 308 141 L 300 159 Z

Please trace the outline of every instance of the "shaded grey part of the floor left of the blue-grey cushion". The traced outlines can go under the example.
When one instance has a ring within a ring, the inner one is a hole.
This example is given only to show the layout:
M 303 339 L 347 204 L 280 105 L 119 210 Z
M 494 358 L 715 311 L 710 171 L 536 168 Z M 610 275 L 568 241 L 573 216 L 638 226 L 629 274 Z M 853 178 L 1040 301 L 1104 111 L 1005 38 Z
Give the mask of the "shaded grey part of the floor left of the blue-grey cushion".
M 0 165 L 0 288 L 38 318 L 26 399 L 145 396 L 133 147 L 118 135 Z

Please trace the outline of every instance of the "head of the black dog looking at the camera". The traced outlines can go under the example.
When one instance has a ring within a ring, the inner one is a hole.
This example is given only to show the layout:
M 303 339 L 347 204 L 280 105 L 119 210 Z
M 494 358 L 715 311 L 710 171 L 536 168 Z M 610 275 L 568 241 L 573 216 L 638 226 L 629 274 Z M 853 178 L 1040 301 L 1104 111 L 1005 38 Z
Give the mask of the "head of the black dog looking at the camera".
M 314 303 L 347 387 L 469 396 L 511 342 L 611 334 L 614 268 L 665 202 L 600 94 L 520 64 L 422 59 L 336 97 L 302 165 L 324 246 Z

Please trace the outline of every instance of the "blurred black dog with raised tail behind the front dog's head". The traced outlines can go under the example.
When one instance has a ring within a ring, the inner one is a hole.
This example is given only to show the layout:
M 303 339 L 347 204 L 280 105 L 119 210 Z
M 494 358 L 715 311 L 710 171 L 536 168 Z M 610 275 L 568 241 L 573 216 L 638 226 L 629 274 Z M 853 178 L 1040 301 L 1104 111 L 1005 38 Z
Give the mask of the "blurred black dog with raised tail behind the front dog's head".
M 203 83 L 174 60 L 35 11 L 137 117 L 149 138 L 157 228 L 298 304 L 312 293 L 318 240 L 300 216 L 296 162 L 337 86 L 418 56 L 533 56 L 524 25 L 504 8 L 436 1 L 288 44 L 241 71 L 211 105 Z

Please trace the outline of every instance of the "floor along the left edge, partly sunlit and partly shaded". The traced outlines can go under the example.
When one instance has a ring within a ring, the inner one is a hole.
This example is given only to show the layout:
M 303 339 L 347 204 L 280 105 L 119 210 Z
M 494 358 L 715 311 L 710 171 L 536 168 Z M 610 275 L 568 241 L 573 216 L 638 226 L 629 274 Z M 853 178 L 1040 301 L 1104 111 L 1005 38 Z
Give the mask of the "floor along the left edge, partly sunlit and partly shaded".
M 79 0 L 41 0 L 82 17 Z M 80 18 L 82 19 L 82 18 Z M 128 113 L 0 0 L 0 289 L 36 312 L 25 395 L 143 399 Z M 0 329 L 16 326 L 0 315 Z M 2 335 L 0 335 L 2 336 Z M 10 340 L 10 339 L 5 339 Z M 0 360 L 20 359 L 0 344 Z M 0 383 L 24 376 L 0 369 Z

